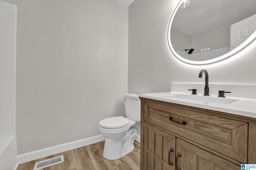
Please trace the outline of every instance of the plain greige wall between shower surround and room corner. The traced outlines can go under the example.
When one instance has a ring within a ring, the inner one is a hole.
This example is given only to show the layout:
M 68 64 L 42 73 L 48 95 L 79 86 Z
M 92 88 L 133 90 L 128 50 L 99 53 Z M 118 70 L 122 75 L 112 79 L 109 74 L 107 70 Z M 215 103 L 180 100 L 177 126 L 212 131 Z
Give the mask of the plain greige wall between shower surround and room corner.
M 18 154 L 99 135 L 124 115 L 128 7 L 113 0 L 6 0 L 17 5 Z

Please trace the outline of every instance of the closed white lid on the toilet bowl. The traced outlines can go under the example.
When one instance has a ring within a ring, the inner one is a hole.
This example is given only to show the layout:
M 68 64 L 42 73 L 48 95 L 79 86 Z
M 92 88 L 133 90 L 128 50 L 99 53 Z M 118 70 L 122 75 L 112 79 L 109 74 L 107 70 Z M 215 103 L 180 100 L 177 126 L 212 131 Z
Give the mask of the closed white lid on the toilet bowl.
M 125 127 L 129 124 L 129 119 L 125 117 L 108 117 L 100 121 L 100 126 L 108 129 L 115 129 L 120 127 Z

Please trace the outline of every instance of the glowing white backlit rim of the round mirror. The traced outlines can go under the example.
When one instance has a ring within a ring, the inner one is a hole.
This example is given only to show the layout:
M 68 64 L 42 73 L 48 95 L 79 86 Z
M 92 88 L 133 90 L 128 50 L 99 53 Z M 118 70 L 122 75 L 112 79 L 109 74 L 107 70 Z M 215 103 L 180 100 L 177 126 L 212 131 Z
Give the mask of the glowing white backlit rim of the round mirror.
M 217 57 L 215 59 L 205 60 L 205 61 L 191 61 L 191 60 L 184 59 L 183 57 L 178 55 L 178 53 L 176 53 L 176 51 L 172 47 L 171 38 L 170 38 L 171 24 L 172 24 L 172 21 L 173 21 L 173 18 L 175 16 L 175 14 L 178 11 L 179 6 L 182 4 L 182 2 L 183 2 L 183 0 L 180 0 L 178 5 L 176 6 L 174 12 L 172 13 L 172 16 L 171 16 L 171 19 L 170 19 L 170 23 L 169 23 L 169 26 L 168 26 L 167 38 L 168 38 L 169 48 L 172 51 L 173 55 L 178 60 L 182 61 L 183 63 L 191 64 L 191 65 L 208 65 L 208 64 L 218 63 L 220 61 L 226 60 L 226 59 L 236 55 L 237 53 L 239 53 L 240 51 L 242 51 L 243 49 L 248 47 L 248 45 L 250 45 L 252 42 L 254 42 L 256 40 L 256 31 L 254 31 L 254 33 L 252 33 L 252 35 L 248 39 L 246 39 L 246 41 L 244 41 L 242 44 L 240 44 L 238 47 L 236 47 L 232 51 L 230 51 L 230 52 L 228 52 L 228 53 L 226 53 L 226 54 L 224 54 L 224 55 L 222 55 L 220 57 Z

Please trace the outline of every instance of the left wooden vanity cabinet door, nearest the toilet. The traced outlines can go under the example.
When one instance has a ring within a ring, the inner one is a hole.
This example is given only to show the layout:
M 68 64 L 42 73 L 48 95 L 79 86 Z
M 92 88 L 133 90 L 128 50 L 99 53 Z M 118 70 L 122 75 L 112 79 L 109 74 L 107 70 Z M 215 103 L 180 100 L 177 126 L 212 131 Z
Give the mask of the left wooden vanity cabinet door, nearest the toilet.
M 144 170 L 175 170 L 176 137 L 144 123 Z

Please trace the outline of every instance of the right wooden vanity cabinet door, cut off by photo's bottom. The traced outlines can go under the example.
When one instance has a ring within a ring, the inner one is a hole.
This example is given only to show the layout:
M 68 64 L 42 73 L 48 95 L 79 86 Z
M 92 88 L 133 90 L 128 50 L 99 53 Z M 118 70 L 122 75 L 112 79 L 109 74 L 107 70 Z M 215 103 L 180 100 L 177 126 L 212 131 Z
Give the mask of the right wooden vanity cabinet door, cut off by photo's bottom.
M 240 166 L 178 138 L 176 161 L 176 170 L 240 170 Z

